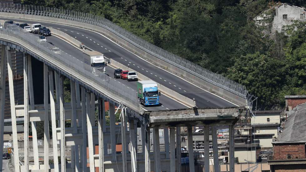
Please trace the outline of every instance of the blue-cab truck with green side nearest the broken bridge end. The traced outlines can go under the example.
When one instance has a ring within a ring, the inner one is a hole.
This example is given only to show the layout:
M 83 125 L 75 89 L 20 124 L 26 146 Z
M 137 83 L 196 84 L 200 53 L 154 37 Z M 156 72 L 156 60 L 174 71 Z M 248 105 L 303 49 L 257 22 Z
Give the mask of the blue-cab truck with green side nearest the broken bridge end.
M 159 105 L 160 92 L 155 81 L 137 81 L 137 93 L 141 105 Z

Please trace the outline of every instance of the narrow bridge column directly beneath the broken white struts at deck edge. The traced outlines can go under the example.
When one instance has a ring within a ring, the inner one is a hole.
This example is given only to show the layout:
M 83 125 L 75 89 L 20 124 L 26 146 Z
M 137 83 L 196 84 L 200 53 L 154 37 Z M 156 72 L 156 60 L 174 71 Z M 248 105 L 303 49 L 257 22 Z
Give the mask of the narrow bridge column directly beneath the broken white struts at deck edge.
M 126 122 L 126 111 L 125 108 L 121 108 L 121 142 L 122 142 L 122 171 L 127 172 L 127 165 L 126 165 L 126 151 L 128 149 L 126 145 L 126 130 L 127 130 L 127 122 Z M 130 125 L 131 127 L 131 125 Z M 130 130 L 131 133 L 131 130 Z

